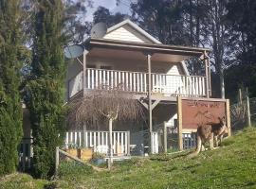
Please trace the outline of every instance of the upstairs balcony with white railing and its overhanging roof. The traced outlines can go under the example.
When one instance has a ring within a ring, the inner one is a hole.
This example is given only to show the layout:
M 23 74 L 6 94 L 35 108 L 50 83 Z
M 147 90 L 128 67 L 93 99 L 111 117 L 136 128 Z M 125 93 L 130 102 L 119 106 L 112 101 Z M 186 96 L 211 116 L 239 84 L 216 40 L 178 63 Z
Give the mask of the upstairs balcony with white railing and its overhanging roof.
M 90 91 L 102 85 L 121 86 L 127 93 L 142 95 L 150 91 L 164 97 L 210 96 L 207 49 L 105 39 L 90 39 L 84 46 L 83 56 L 68 67 L 65 83 L 68 99 L 83 87 Z M 185 60 L 194 58 L 201 66 L 198 73 L 204 76 L 190 76 Z

